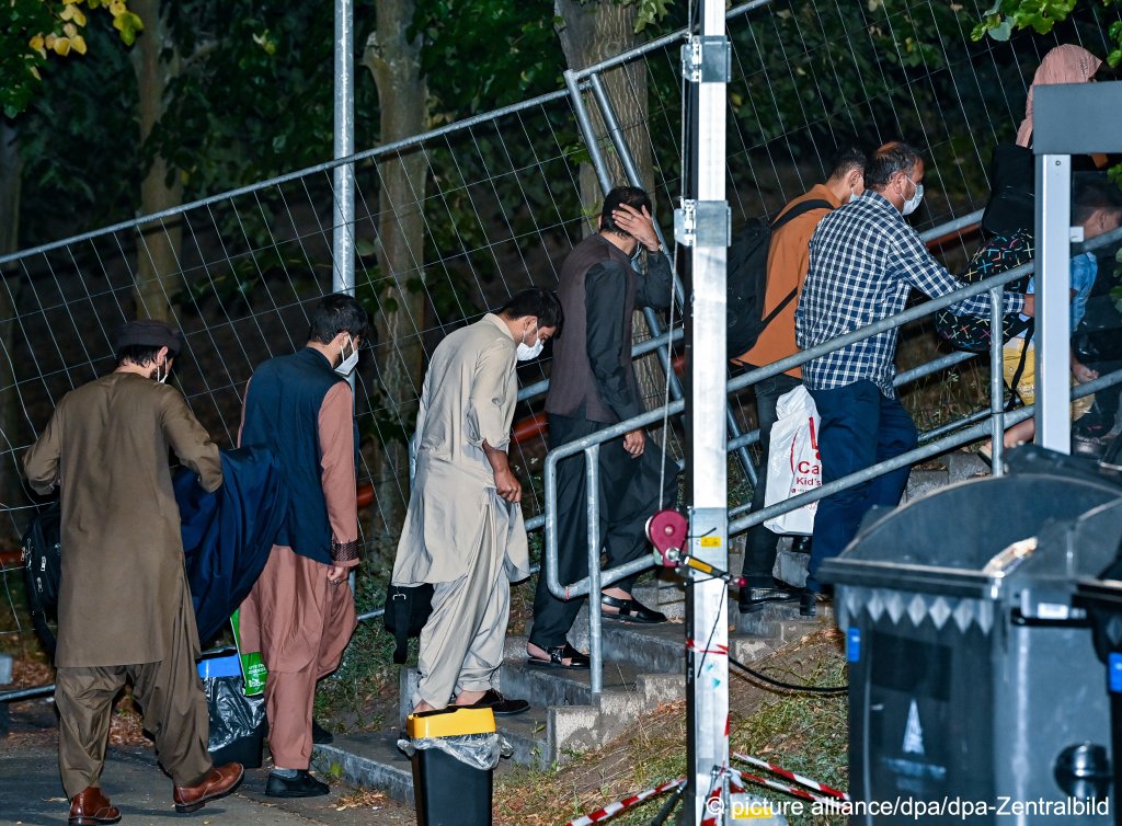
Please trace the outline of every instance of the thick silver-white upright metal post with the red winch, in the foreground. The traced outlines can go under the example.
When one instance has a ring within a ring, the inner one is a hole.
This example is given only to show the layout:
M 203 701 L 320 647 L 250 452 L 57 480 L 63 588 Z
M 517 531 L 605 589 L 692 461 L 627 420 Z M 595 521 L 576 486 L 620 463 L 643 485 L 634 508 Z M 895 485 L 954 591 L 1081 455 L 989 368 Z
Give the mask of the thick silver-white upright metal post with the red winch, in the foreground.
M 690 198 L 696 200 L 683 201 L 674 232 L 691 247 L 692 302 L 686 314 L 692 506 L 689 552 L 723 570 L 728 569 L 725 270 L 732 219 L 725 198 L 725 95 L 729 59 L 725 4 L 703 0 L 700 36 L 691 37 L 682 47 L 682 72 L 692 101 L 692 157 L 688 158 L 687 181 Z M 696 572 L 690 576 L 686 607 L 688 793 L 683 823 L 700 826 L 702 818 L 714 814 L 706 809 L 714 770 L 728 765 L 728 591 L 721 579 Z M 726 788 L 724 782 L 721 786 Z M 718 817 L 724 823 L 724 817 Z

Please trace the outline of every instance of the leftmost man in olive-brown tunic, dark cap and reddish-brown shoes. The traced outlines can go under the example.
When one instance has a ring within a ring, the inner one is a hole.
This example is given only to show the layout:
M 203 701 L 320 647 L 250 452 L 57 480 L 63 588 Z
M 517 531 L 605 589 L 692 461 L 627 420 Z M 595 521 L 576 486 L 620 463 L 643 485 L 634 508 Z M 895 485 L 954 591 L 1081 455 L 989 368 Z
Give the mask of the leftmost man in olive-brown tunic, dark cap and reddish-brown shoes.
M 113 697 L 127 679 L 172 775 L 177 810 L 229 793 L 242 774 L 238 763 L 213 768 L 206 752 L 168 448 L 206 490 L 221 486 L 222 466 L 183 395 L 163 384 L 181 345 L 180 332 L 162 322 L 126 324 L 117 369 L 67 393 L 24 457 L 36 492 L 62 489 L 55 703 L 72 824 L 120 819 L 100 778 Z

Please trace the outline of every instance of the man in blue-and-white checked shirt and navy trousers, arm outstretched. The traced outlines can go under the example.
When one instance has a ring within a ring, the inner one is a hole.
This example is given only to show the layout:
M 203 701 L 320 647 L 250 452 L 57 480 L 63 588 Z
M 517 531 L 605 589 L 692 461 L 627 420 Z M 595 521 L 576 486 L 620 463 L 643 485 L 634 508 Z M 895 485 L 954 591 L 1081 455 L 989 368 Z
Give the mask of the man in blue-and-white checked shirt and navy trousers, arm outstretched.
M 795 339 L 809 350 L 895 315 L 912 287 L 934 297 L 962 284 L 927 251 L 904 220 L 923 198 L 923 160 L 902 143 L 876 150 L 865 171 L 865 194 L 827 214 L 810 239 L 810 270 L 795 313 Z M 988 315 L 987 293 L 951 304 L 964 315 Z M 1031 295 L 1005 293 L 1005 313 L 1034 312 Z M 892 379 L 896 329 L 807 362 L 803 383 L 818 406 L 818 453 L 826 485 L 913 449 L 916 424 Z M 802 613 L 813 615 L 822 560 L 836 557 L 874 505 L 900 502 L 904 467 L 820 499 Z

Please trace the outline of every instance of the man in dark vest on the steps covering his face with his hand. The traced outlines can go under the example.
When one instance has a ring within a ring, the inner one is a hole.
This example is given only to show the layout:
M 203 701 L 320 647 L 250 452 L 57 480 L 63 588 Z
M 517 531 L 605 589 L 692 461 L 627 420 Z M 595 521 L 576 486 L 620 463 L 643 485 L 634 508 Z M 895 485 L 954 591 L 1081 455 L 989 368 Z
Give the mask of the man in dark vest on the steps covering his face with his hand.
M 633 257 L 646 249 L 647 274 Z M 632 315 L 637 306 L 664 309 L 672 297 L 670 260 L 659 244 L 651 199 L 636 186 L 611 190 L 600 211 L 599 232 L 578 244 L 561 267 L 558 296 L 564 334 L 553 347 L 545 411 L 554 448 L 596 433 L 645 411 L 632 366 Z M 600 542 L 614 568 L 649 552 L 646 520 L 675 501 L 677 469 L 663 468 L 659 450 L 646 450 L 642 430 L 606 442 L 599 451 Z M 660 484 L 662 485 L 660 489 Z M 588 576 L 588 511 L 585 457 L 558 467 L 558 565 L 562 582 Z M 604 615 L 635 623 L 666 617 L 632 597 L 635 577 L 605 588 Z M 581 599 L 550 594 L 537 579 L 534 625 L 526 645 L 532 664 L 588 668 L 568 640 Z

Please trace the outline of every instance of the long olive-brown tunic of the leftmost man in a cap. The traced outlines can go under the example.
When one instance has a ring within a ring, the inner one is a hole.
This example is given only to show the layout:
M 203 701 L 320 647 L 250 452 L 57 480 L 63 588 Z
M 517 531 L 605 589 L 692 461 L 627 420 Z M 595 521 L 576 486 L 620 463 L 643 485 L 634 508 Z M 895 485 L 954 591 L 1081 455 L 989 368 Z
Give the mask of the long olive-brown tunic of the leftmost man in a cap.
M 218 446 L 183 395 L 111 373 L 67 393 L 24 456 L 35 490 L 62 488 L 56 666 L 157 662 L 191 611 L 168 448 L 206 490 L 221 486 Z

